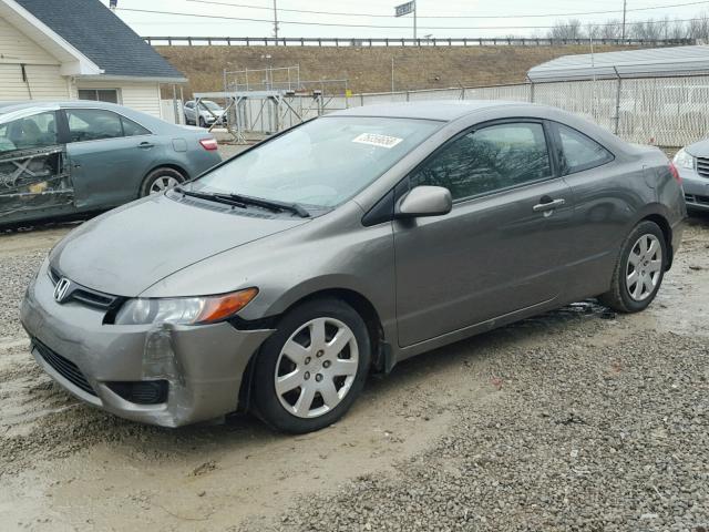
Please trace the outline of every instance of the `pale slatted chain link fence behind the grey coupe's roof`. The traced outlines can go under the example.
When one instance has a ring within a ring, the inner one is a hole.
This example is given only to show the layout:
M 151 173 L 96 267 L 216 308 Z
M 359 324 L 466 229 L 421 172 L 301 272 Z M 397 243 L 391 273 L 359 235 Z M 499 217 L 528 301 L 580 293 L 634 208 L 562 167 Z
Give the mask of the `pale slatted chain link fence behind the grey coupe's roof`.
M 273 133 L 333 111 L 423 100 L 506 100 L 563 109 L 628 142 L 679 147 L 709 136 L 709 75 L 618 78 L 431 89 L 353 95 L 250 98 L 239 106 L 245 131 Z

